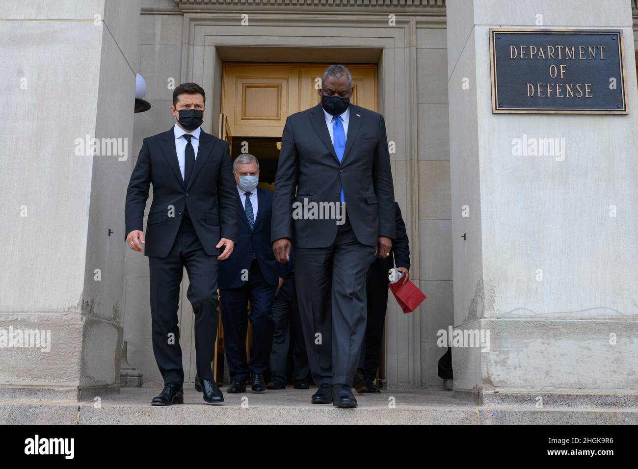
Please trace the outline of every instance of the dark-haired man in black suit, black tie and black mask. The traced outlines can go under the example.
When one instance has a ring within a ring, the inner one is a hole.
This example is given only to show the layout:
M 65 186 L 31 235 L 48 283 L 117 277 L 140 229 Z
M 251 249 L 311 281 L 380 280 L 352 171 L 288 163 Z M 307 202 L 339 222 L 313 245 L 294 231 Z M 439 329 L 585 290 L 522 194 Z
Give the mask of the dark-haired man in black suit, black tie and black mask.
M 197 373 L 204 401 L 224 400 L 213 380 L 211 362 L 218 324 L 218 260 L 232 253 L 237 238 L 237 193 L 228 143 L 200 127 L 204 106 L 204 90 L 197 84 L 175 88 L 171 110 L 177 123 L 144 138 L 126 191 L 126 243 L 138 252 L 144 245 L 149 257 L 152 344 L 164 379 L 164 389 L 152 405 L 184 401 L 177 327 L 184 267 L 189 279 L 187 297 L 195 313 Z M 142 221 L 151 184 L 153 198 L 144 235 Z

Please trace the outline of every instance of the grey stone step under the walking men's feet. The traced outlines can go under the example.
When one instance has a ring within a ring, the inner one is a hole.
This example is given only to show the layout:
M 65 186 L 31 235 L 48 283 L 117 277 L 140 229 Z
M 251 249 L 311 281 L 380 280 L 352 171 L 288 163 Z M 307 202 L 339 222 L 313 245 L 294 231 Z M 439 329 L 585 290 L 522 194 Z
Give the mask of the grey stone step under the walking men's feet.
M 473 406 L 446 391 L 356 394 L 355 409 L 313 405 L 314 389 L 224 392 L 225 403 L 212 406 L 188 387 L 184 404 L 151 406 L 158 392 L 127 387 L 94 402 L 0 401 L 0 424 L 638 424 L 638 408 Z

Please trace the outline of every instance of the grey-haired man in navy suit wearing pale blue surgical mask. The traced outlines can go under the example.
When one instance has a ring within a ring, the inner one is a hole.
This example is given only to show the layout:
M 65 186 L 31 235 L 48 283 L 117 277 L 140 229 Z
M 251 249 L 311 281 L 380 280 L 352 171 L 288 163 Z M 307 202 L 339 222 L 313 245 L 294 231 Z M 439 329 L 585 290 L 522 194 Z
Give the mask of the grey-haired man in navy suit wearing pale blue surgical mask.
M 221 321 L 231 380 L 228 392 L 246 391 L 248 378 L 253 392 L 263 392 L 263 373 L 272 346 L 272 299 L 279 280 L 270 239 L 272 192 L 257 188 L 259 162 L 255 156 L 237 156 L 233 169 L 240 220 L 237 246 L 227 260 L 219 262 Z M 246 361 L 248 320 L 253 326 L 250 362 Z

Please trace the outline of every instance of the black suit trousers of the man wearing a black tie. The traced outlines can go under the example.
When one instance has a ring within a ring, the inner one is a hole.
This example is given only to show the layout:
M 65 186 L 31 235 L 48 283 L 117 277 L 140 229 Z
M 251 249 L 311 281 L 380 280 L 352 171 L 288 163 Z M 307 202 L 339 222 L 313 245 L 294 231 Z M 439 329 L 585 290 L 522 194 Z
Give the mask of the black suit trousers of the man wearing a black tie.
M 149 257 L 153 353 L 164 383 L 184 383 L 177 327 L 179 284 L 184 267 L 189 280 L 186 297 L 195 313 L 197 373 L 202 378 L 212 379 L 211 362 L 219 320 L 217 257 L 204 251 L 188 217 L 182 218 L 168 256 Z

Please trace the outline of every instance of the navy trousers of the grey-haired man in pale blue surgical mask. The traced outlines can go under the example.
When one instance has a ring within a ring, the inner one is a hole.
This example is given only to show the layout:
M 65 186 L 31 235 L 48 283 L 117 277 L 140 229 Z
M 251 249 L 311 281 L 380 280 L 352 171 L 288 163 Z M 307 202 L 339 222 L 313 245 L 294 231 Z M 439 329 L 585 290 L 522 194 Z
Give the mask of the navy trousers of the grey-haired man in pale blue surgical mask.
M 219 290 L 226 362 L 231 380 L 246 380 L 251 373 L 264 373 L 268 369 L 272 346 L 272 299 L 276 289 L 275 285 L 266 281 L 257 260 L 253 259 L 248 281 L 242 287 Z M 253 325 L 250 362 L 246 359 L 249 320 Z

